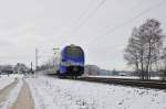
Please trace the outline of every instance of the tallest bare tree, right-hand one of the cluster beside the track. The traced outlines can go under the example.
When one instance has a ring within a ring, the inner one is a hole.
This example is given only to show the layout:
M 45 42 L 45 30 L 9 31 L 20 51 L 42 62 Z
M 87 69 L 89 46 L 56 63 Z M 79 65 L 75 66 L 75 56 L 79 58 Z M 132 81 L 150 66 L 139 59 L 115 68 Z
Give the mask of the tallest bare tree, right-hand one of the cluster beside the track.
M 162 51 L 163 37 L 160 23 L 157 20 L 147 20 L 141 25 L 141 37 L 144 43 L 144 62 L 145 62 L 145 76 L 146 79 L 151 78 L 149 68 L 159 59 Z

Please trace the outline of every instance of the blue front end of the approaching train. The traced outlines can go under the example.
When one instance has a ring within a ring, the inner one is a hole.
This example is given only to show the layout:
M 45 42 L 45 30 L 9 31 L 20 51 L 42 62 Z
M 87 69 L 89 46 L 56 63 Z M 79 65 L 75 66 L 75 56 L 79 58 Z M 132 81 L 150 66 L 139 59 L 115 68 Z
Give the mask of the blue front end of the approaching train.
M 77 77 L 84 73 L 84 51 L 76 45 L 65 46 L 60 54 L 60 63 L 56 75 L 60 78 Z

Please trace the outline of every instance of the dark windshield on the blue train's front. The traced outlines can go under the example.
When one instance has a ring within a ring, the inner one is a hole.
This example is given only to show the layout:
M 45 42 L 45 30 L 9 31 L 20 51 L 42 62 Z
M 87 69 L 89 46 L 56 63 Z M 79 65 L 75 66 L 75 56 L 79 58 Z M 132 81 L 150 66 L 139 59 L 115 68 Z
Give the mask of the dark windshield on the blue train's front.
M 69 57 L 80 57 L 83 56 L 83 52 L 81 48 L 77 47 L 69 47 L 66 48 L 66 55 Z

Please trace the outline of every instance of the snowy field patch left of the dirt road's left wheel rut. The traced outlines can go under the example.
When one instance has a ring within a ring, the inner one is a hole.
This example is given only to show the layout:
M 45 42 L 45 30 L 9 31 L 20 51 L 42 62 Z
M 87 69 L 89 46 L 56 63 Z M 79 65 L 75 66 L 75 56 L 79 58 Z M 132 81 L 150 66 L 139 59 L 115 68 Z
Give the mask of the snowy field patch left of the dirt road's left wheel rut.
M 9 84 L 11 84 L 15 78 L 21 78 L 22 75 L 11 74 L 11 75 L 1 75 L 0 76 L 0 89 L 4 88 Z

